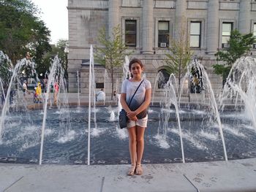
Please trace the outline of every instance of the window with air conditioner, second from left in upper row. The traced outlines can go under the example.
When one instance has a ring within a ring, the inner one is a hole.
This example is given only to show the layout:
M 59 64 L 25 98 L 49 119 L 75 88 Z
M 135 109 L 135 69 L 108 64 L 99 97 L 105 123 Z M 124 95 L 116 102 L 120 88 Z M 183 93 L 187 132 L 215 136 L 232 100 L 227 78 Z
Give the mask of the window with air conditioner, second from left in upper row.
M 169 47 L 169 21 L 158 22 L 158 47 Z

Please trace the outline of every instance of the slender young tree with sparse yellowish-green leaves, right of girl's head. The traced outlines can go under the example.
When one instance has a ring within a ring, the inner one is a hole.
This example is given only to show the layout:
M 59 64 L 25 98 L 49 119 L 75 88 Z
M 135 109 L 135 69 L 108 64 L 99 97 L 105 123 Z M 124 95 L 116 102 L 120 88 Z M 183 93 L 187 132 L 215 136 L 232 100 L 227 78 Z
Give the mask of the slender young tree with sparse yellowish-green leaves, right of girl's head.
M 178 74 L 178 91 L 181 89 L 181 78 L 187 72 L 187 66 L 192 57 L 192 51 L 189 47 L 186 30 L 181 27 L 178 39 L 170 39 L 169 52 L 165 53 L 165 66 L 168 74 Z

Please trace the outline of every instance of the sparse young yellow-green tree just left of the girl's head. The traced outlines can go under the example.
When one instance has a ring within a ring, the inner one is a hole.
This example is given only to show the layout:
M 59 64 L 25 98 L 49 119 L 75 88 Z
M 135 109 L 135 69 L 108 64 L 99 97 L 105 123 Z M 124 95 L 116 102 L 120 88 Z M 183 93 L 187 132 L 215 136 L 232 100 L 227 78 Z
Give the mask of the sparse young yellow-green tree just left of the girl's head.
M 96 47 L 95 60 L 105 66 L 108 74 L 111 75 L 111 93 L 114 91 L 114 74 L 120 72 L 124 62 L 124 56 L 131 53 L 125 52 L 126 47 L 121 39 L 121 30 L 116 26 L 112 30 L 112 38 L 106 35 L 105 28 L 99 31 L 99 42 L 103 47 Z M 113 99 L 113 94 L 111 94 Z

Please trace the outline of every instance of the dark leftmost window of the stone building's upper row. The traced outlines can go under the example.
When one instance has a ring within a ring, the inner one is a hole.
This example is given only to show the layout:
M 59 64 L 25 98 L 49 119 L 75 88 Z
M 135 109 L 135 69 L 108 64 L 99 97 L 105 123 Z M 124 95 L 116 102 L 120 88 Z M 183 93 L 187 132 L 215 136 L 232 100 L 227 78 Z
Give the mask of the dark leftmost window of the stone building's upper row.
M 125 46 L 136 47 L 136 20 L 125 20 Z

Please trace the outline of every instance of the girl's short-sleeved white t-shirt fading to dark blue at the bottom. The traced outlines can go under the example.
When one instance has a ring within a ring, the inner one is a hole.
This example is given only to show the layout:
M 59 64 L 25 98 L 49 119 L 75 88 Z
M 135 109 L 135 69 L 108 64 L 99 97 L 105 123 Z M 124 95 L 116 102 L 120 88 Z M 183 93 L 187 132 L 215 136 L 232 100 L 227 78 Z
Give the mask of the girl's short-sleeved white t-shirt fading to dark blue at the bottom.
M 126 96 L 127 105 L 129 106 L 129 109 L 132 111 L 137 110 L 140 107 L 140 105 L 143 104 L 143 101 L 145 100 L 146 90 L 148 88 L 151 88 L 151 83 L 148 80 L 143 80 L 141 85 L 140 85 L 140 82 L 132 82 L 131 80 L 124 80 L 121 86 L 121 93 L 127 94 Z M 140 88 L 138 88 L 138 85 L 140 85 Z M 135 93 L 137 88 L 138 88 L 138 91 Z M 134 93 L 135 93 L 135 96 L 132 99 L 132 96 Z M 132 99 L 132 102 L 129 105 L 130 99 Z

